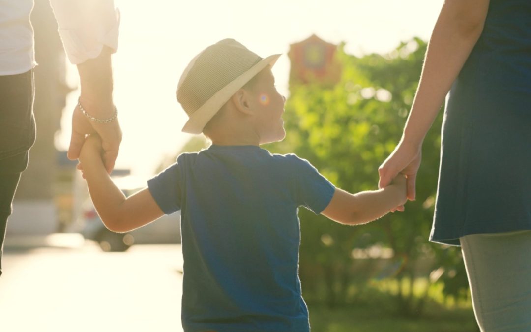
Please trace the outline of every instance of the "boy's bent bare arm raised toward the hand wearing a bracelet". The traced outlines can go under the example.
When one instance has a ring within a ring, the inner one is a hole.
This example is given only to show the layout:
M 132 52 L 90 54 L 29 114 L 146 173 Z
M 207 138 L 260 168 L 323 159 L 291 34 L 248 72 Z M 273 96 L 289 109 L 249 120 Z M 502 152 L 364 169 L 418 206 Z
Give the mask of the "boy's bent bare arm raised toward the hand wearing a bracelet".
M 90 198 L 105 226 L 113 232 L 129 232 L 163 216 L 148 188 L 125 197 L 107 174 L 101 153 L 100 138 L 91 135 L 83 144 L 79 160 Z

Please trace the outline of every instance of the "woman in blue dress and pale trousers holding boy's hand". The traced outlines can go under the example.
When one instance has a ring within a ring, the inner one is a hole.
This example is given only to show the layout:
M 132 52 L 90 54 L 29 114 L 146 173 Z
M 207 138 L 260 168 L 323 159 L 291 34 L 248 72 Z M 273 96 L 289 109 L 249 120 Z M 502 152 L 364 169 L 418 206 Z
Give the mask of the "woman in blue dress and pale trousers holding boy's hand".
M 461 245 L 482 330 L 531 331 L 531 1 L 444 2 L 381 187 L 405 174 L 415 199 L 447 93 L 430 241 Z

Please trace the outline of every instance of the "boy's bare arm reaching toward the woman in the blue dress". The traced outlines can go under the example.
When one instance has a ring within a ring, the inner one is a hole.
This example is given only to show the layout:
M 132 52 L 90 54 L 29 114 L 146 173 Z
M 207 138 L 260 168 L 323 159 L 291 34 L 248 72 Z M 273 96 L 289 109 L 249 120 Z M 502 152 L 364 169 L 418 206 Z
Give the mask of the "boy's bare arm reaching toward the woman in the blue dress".
M 366 224 L 405 202 L 406 178 L 399 174 L 389 186 L 380 190 L 351 194 L 336 188 L 332 200 L 321 214 L 341 224 Z

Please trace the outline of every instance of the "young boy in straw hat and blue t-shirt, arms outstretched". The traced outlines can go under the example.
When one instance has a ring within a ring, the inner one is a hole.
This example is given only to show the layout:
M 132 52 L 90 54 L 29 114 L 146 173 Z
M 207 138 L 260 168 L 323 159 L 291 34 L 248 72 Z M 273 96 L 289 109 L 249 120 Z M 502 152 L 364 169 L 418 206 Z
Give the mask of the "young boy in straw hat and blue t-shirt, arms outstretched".
M 212 45 L 185 69 L 177 99 L 189 115 L 183 131 L 212 146 L 182 154 L 125 198 L 87 139 L 81 167 L 105 225 L 141 227 L 181 210 L 185 331 L 309 331 L 298 278 L 299 206 L 348 225 L 380 218 L 406 201 L 403 176 L 387 188 L 349 194 L 295 155 L 263 143 L 284 139 L 285 98 L 271 66 L 232 39 Z

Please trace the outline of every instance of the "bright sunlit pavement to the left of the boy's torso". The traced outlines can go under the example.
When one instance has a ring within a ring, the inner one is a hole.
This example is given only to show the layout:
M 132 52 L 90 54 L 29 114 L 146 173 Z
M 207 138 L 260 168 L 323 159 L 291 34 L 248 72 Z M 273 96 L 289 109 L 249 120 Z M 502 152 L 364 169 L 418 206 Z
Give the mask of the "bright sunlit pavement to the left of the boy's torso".
M 182 331 L 180 245 L 104 253 L 75 237 L 48 240 L 6 243 L 2 332 Z

